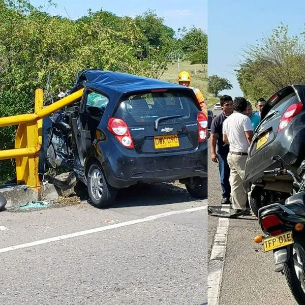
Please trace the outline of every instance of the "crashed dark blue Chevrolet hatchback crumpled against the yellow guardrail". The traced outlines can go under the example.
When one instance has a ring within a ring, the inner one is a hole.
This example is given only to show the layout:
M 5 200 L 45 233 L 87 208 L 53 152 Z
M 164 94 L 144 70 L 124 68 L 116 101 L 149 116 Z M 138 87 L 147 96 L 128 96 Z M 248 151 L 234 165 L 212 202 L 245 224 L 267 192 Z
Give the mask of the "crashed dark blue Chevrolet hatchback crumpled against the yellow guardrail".
M 179 180 L 207 196 L 207 118 L 192 89 L 96 69 L 79 73 L 69 94 L 81 88 L 44 119 L 40 172 L 73 171 L 96 207 L 141 182 Z

